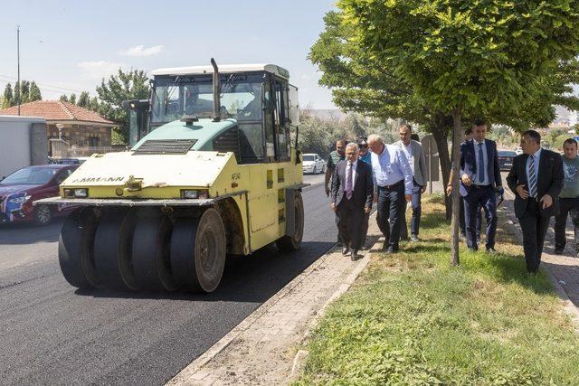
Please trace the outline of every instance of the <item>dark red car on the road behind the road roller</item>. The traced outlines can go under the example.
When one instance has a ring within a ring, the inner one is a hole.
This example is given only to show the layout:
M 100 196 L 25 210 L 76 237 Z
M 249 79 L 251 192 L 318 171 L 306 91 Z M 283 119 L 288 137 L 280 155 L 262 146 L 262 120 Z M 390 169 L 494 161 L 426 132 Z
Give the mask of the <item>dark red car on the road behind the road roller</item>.
M 58 186 L 79 165 L 28 166 L 0 181 L 0 223 L 34 221 L 47 225 L 53 217 L 67 215 L 73 207 L 33 206 L 33 202 L 59 195 Z

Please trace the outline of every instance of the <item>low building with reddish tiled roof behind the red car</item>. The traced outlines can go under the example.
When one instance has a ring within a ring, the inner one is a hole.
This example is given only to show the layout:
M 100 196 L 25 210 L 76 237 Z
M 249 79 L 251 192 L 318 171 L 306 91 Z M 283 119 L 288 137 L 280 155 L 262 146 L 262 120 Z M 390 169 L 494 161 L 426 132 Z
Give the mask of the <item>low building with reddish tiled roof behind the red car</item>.
M 18 107 L 0 110 L 0 115 L 18 115 Z M 46 119 L 47 140 L 62 139 L 78 153 L 106 152 L 111 146 L 111 129 L 116 126 L 94 111 L 61 100 L 37 100 L 20 105 L 20 116 Z M 104 150 L 104 151 L 103 151 Z M 49 146 L 49 152 L 52 149 Z

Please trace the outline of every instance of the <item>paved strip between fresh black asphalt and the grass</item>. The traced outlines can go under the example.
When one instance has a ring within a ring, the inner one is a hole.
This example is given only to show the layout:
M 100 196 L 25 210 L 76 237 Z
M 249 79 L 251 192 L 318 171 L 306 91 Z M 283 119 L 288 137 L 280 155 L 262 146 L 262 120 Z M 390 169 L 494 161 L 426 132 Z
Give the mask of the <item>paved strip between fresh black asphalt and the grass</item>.
M 370 221 L 368 238 L 377 240 L 375 215 Z M 340 249 L 330 250 L 167 384 L 287 383 L 296 348 L 365 268 L 369 251 L 362 254 L 353 262 Z

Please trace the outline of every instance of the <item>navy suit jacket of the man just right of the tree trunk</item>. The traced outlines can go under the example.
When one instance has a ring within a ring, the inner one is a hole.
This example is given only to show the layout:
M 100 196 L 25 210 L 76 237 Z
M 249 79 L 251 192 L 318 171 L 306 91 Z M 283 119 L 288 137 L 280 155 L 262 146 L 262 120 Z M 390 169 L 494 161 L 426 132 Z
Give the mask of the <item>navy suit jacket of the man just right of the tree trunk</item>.
M 470 192 L 470 186 L 462 184 L 462 174 L 468 174 L 473 180 L 473 174 L 477 173 L 477 158 L 475 152 L 475 140 L 465 141 L 460 144 L 460 195 L 463 197 Z M 489 176 L 489 183 L 496 187 L 502 185 L 503 181 L 500 177 L 500 165 L 498 164 L 497 143 L 490 139 L 485 139 L 485 146 L 487 147 L 487 170 L 486 174 Z

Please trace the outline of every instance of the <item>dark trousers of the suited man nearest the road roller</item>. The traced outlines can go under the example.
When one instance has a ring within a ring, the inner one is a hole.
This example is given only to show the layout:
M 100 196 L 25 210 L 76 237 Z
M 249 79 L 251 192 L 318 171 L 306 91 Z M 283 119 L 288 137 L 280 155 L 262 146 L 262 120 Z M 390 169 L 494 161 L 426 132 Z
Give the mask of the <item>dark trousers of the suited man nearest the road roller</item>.
M 360 249 L 364 219 L 364 202 L 356 205 L 353 200 L 344 197 L 337 205 L 337 231 L 345 247 L 349 245 L 351 249 Z

